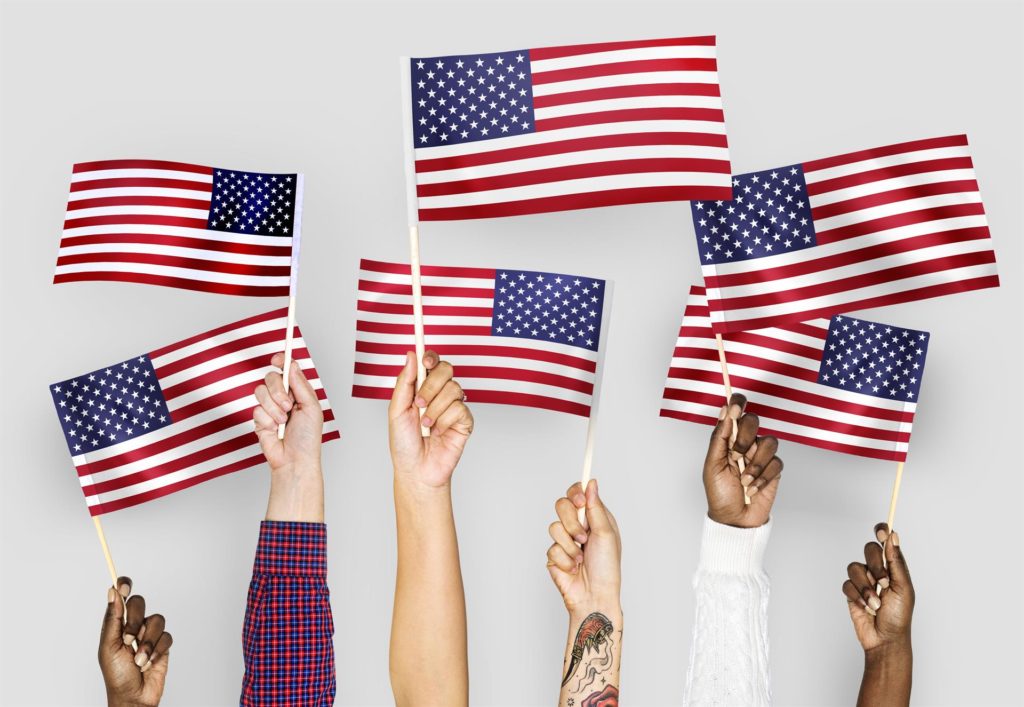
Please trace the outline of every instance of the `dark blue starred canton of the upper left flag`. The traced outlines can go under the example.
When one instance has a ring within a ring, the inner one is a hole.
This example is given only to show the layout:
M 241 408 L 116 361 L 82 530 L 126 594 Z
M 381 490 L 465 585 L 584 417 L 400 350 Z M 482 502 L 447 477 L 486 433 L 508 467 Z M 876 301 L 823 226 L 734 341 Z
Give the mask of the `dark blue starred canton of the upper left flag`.
M 295 174 L 214 169 L 206 227 L 250 236 L 292 236 Z

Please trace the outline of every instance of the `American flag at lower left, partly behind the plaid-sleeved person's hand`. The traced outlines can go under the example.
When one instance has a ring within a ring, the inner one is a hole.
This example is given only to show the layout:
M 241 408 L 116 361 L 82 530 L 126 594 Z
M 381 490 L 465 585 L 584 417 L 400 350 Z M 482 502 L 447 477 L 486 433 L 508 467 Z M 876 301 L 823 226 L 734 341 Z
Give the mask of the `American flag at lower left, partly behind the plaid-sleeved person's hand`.
M 127 508 L 263 461 L 253 390 L 281 350 L 288 310 L 229 324 L 50 386 L 93 515 Z M 302 335 L 294 356 L 339 436 Z

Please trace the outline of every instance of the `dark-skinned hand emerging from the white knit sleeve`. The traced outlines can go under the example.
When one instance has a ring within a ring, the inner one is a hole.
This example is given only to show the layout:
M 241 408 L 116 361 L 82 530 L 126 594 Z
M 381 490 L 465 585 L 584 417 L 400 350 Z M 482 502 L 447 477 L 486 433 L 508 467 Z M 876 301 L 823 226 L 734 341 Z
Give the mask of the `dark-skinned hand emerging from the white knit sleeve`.
M 712 521 L 736 528 L 759 528 L 771 516 L 782 460 L 775 456 L 778 440 L 758 436 L 760 420 L 757 415 L 744 414 L 745 407 L 746 399 L 733 393 L 718 415 L 705 459 L 705 493 Z

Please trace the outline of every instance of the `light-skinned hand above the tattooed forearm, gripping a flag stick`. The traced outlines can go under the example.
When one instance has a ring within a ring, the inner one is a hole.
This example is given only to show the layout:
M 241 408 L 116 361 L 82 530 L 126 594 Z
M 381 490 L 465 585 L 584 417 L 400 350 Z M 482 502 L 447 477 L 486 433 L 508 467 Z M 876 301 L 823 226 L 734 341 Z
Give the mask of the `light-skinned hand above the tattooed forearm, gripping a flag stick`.
M 586 508 L 584 522 L 579 510 Z M 623 546 L 618 525 L 601 501 L 597 480 L 586 492 L 573 484 L 555 502 L 558 519 L 548 527 L 548 572 L 570 615 L 620 607 Z M 578 544 L 579 543 L 579 544 Z

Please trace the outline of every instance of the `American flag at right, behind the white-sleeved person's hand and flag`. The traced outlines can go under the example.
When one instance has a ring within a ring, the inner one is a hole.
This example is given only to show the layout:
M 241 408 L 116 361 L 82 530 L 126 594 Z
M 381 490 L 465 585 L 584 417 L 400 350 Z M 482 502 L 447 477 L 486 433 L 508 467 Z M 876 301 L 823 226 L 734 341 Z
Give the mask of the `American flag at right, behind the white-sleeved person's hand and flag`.
M 730 334 L 729 379 L 765 434 L 904 461 L 921 396 L 928 332 L 848 315 Z M 722 369 L 705 288 L 690 288 L 662 416 L 714 425 Z

